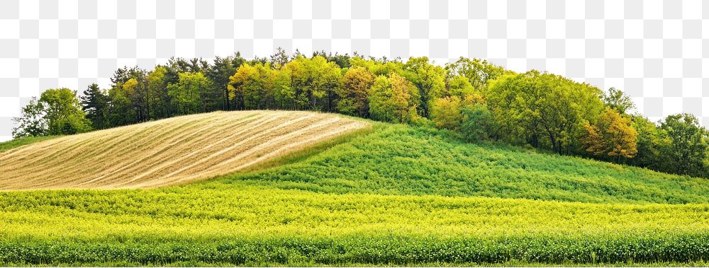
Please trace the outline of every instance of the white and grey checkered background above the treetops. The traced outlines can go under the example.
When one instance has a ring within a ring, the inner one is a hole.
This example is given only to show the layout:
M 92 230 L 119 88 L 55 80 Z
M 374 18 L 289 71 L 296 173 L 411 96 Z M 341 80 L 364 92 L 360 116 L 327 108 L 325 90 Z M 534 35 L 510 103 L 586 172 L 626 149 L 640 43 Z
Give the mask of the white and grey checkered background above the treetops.
M 705 18 L 700 0 L 0 0 L 0 140 L 46 88 L 80 93 L 121 66 L 277 47 L 478 57 L 620 88 L 652 120 L 691 112 L 708 125 Z

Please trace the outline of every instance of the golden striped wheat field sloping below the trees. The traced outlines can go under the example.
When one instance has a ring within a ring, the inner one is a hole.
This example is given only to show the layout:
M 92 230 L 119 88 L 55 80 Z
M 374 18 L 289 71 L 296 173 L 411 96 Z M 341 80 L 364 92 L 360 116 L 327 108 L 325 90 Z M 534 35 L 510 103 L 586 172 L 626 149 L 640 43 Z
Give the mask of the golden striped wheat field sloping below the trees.
M 0 153 L 0 190 L 152 188 L 233 173 L 368 127 L 332 114 L 211 112 L 64 136 Z

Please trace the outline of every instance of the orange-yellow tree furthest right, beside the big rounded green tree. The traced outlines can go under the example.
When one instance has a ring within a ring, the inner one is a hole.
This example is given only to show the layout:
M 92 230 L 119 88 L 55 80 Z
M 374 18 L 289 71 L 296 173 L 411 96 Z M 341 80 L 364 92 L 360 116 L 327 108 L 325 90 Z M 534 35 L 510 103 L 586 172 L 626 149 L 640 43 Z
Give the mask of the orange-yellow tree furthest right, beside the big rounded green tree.
M 637 131 L 630 118 L 623 117 L 608 107 L 601 113 L 596 124 L 584 122 L 586 151 L 601 158 L 620 162 L 637 154 Z

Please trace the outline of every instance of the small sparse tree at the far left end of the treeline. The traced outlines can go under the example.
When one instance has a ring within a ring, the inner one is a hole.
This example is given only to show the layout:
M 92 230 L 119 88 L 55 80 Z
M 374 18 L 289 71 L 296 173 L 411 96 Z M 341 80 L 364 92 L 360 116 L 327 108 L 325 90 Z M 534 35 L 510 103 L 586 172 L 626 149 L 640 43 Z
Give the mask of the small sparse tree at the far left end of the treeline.
M 12 119 L 17 123 L 17 126 L 12 129 L 13 139 L 47 135 L 49 127 L 44 116 L 45 109 L 42 103 L 37 101 L 37 97 L 31 98 L 30 102 L 22 108 L 21 116 Z

